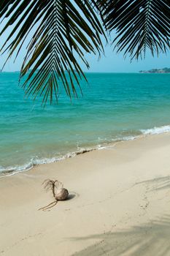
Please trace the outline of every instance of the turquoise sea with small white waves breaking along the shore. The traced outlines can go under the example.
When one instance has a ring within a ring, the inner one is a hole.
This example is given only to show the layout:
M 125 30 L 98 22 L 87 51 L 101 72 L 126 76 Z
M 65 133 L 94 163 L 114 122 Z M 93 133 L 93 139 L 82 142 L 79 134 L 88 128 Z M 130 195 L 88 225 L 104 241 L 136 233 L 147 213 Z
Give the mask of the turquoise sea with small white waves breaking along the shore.
M 170 74 L 88 73 L 83 97 L 41 107 L 18 72 L 0 73 L 0 171 L 24 170 L 82 148 L 170 130 Z

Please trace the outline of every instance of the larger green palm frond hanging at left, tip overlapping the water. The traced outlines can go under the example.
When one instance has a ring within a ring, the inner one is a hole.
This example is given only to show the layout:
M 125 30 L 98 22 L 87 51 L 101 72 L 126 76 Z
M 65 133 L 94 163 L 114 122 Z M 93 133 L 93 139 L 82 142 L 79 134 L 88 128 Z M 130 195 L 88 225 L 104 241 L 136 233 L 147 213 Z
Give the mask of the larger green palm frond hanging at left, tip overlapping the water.
M 43 97 L 50 103 L 58 100 L 59 81 L 66 94 L 77 95 L 75 81 L 85 78 L 77 56 L 89 67 L 85 53 L 99 53 L 103 50 L 101 23 L 90 1 L 82 0 L 2 0 L 0 19 L 7 20 L 0 31 L 0 37 L 9 26 L 12 31 L 1 52 L 8 51 L 8 59 L 20 49 L 34 31 L 27 45 L 26 56 L 20 71 L 20 78 L 28 72 L 23 83 L 26 94 Z

